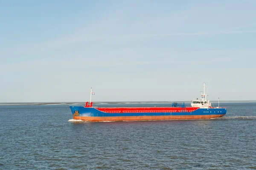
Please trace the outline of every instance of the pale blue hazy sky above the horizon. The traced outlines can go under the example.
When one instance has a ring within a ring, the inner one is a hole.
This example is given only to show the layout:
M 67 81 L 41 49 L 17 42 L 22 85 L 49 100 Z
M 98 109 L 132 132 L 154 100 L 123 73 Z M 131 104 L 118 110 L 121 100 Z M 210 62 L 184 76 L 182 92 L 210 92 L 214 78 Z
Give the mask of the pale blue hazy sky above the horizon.
M 0 4 L 0 102 L 256 100 L 255 0 Z

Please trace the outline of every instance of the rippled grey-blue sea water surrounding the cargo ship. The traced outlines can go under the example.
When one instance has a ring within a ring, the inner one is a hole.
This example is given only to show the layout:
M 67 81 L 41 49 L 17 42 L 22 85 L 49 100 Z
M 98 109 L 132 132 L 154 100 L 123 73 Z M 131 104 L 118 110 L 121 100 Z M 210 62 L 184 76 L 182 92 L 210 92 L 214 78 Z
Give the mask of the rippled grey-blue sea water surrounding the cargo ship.
M 170 106 L 108 104 L 98 106 Z M 79 122 L 68 105 L 0 106 L 1 170 L 256 169 L 256 103 L 209 120 Z

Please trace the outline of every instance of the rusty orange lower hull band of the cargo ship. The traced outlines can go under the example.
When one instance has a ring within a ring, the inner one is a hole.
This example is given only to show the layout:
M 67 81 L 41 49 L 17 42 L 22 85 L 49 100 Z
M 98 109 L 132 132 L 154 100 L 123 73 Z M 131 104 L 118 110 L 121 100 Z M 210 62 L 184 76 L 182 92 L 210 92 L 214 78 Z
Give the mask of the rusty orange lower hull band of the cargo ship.
M 175 120 L 175 119 L 208 119 L 218 118 L 223 115 L 169 115 L 169 116 L 106 116 L 84 117 L 73 116 L 73 119 L 82 121 L 146 121 L 146 120 Z

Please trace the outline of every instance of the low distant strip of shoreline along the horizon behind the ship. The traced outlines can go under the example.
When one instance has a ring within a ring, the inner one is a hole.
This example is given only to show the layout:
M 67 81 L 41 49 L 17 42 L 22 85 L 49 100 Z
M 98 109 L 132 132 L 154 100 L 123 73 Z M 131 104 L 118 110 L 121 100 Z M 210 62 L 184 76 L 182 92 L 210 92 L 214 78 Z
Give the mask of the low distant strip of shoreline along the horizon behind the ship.
M 173 102 L 191 101 L 96 101 L 93 104 L 171 104 Z M 211 103 L 218 103 L 218 101 L 211 101 Z M 220 101 L 220 103 L 256 103 L 256 101 Z M 20 106 L 20 105 L 84 105 L 85 102 L 6 102 L 0 103 L 0 106 Z

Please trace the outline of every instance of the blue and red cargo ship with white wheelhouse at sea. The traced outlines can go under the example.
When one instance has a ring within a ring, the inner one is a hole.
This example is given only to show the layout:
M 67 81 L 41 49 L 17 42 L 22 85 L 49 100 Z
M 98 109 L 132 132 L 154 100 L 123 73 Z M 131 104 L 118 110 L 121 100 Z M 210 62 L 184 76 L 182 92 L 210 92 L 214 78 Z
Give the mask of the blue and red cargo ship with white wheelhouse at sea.
M 175 120 L 175 119 L 209 119 L 224 116 L 225 107 L 212 107 L 207 100 L 207 94 L 201 92 L 201 97 L 192 100 L 191 106 L 185 103 L 173 102 L 170 107 L 93 107 L 91 101 L 85 106 L 70 106 L 73 119 L 81 121 L 150 121 L 150 120 Z

